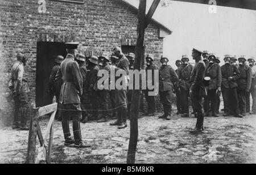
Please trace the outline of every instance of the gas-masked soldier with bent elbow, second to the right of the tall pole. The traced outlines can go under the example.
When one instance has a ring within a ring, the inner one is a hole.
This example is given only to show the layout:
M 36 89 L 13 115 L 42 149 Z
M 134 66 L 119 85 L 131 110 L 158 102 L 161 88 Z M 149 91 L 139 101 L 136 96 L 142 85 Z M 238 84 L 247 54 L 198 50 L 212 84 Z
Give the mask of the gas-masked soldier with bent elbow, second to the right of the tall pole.
M 169 59 L 166 56 L 162 56 L 160 59 L 162 66 L 159 69 L 159 96 L 163 105 L 164 114 L 159 116 L 159 118 L 170 120 L 172 111 L 172 93 L 179 78 L 175 70 L 170 65 L 167 65 L 168 61 Z

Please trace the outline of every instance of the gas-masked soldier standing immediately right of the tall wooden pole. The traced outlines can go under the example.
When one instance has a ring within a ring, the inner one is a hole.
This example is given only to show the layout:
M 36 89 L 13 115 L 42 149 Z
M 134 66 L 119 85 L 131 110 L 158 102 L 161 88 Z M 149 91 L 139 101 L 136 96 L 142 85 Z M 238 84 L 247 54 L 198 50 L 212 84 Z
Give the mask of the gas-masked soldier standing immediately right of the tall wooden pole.
M 146 67 L 146 83 L 151 82 L 154 86 L 154 71 L 158 70 L 158 67 L 154 64 L 154 56 L 152 54 L 147 54 L 146 57 L 147 67 Z M 148 79 L 148 70 L 152 71 L 151 79 Z M 144 96 L 147 101 L 147 112 L 144 113 L 145 116 L 155 116 L 155 96 L 149 96 L 148 92 L 153 92 L 154 89 L 145 89 Z

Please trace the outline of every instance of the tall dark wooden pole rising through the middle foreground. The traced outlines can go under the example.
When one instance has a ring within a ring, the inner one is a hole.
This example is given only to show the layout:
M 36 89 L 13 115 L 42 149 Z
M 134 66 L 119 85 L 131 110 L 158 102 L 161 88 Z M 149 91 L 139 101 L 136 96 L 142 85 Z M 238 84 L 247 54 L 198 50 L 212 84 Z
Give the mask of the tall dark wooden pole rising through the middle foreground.
M 144 44 L 144 33 L 146 27 L 146 0 L 139 1 L 137 45 L 135 47 L 134 70 L 141 70 L 141 57 Z M 139 114 L 139 93 L 140 90 L 133 90 L 131 97 L 130 116 L 130 140 L 127 153 L 127 164 L 135 163 L 135 153 L 138 141 L 138 114 Z

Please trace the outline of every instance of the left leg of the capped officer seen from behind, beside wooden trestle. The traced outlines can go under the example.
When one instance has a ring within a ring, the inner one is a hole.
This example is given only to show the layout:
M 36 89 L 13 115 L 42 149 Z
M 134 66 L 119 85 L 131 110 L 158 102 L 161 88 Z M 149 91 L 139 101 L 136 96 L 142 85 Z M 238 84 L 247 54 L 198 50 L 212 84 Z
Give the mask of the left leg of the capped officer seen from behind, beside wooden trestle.
M 60 115 L 61 115 L 61 125 L 62 125 L 62 130 L 64 134 L 64 139 L 65 139 L 65 145 L 69 145 L 72 143 L 75 143 L 72 138 L 71 138 L 71 133 L 69 130 L 69 108 L 67 108 L 67 105 L 65 104 L 60 104 Z

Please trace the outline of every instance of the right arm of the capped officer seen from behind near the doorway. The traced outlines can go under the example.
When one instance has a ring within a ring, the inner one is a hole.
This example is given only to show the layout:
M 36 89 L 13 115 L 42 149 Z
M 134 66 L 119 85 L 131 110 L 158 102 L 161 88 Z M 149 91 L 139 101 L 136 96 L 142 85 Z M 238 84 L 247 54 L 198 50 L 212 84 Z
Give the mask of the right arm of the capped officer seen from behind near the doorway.
M 82 75 L 79 70 L 79 65 L 77 62 L 72 62 L 71 65 L 71 74 L 73 76 L 73 83 L 76 86 L 77 91 L 79 91 L 79 95 L 82 95 Z

